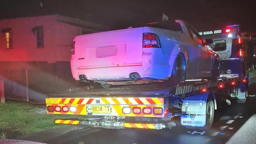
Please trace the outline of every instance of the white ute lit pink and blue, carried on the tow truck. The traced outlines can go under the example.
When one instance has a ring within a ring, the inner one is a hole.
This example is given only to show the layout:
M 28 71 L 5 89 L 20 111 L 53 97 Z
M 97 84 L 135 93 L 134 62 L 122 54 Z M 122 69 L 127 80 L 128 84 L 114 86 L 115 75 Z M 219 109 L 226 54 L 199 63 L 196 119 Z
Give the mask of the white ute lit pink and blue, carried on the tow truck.
M 152 22 L 138 28 L 79 35 L 72 44 L 74 79 L 102 87 L 217 78 L 219 56 L 182 20 Z

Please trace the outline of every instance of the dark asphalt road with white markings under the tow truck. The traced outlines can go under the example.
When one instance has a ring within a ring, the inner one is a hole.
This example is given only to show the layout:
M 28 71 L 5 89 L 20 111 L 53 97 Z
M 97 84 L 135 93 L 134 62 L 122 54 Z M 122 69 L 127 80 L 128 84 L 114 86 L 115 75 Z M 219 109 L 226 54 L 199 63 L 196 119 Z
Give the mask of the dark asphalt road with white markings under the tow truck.
M 251 79 L 249 94 L 256 94 L 256 77 Z M 256 113 L 256 97 L 248 97 L 245 104 L 232 101 L 215 111 L 213 127 L 209 131 L 188 130 L 180 126 L 179 119 L 174 119 L 177 126 L 173 129 L 97 129 L 88 127 L 78 133 L 65 135 L 50 140 L 49 144 L 224 144 L 247 120 Z M 256 127 L 249 127 L 256 131 Z M 240 135 L 240 133 L 236 133 Z M 239 138 L 239 137 L 238 137 Z M 241 137 L 245 138 L 245 137 Z M 250 137 L 252 141 L 256 137 Z M 250 138 L 246 139 L 247 141 Z M 243 140 L 241 140 L 243 141 Z

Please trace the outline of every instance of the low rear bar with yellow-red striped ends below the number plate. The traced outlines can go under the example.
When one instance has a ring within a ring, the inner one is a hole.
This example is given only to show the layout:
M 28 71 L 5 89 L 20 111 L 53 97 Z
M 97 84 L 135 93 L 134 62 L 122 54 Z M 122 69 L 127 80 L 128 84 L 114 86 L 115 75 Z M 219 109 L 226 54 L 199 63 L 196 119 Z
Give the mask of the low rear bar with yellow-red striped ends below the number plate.
M 55 124 L 73 124 L 82 126 L 102 127 L 109 129 L 124 129 L 124 128 L 141 128 L 141 129 L 164 129 L 176 126 L 174 122 L 167 124 L 154 124 L 154 123 L 128 123 L 128 122 L 110 122 L 100 120 L 67 120 L 67 119 L 56 119 Z

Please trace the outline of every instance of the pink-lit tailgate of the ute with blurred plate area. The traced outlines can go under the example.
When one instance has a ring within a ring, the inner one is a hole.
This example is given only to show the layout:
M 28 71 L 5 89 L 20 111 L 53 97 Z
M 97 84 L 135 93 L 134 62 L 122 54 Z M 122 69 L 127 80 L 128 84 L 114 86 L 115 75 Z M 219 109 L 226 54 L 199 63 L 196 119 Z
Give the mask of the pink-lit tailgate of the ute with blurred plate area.
M 142 63 L 143 28 L 107 31 L 77 36 L 78 67 Z

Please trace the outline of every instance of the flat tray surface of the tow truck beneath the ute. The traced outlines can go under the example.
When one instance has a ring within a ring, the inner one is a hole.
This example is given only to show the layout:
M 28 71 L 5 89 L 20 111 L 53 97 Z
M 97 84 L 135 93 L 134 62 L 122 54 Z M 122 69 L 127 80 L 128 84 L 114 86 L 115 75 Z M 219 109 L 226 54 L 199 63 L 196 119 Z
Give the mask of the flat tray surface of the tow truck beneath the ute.
M 198 81 L 185 81 L 181 85 L 175 87 L 166 87 L 163 83 L 149 83 L 144 85 L 125 85 L 113 86 L 108 89 L 95 89 L 87 87 L 80 87 L 65 92 L 62 94 L 48 94 L 48 97 L 165 97 L 171 94 L 180 95 L 189 92 L 200 91 L 203 88 L 211 89 L 217 87 L 219 82 L 228 82 L 230 80 L 239 79 L 241 77 L 221 77 L 214 81 L 198 80 Z

